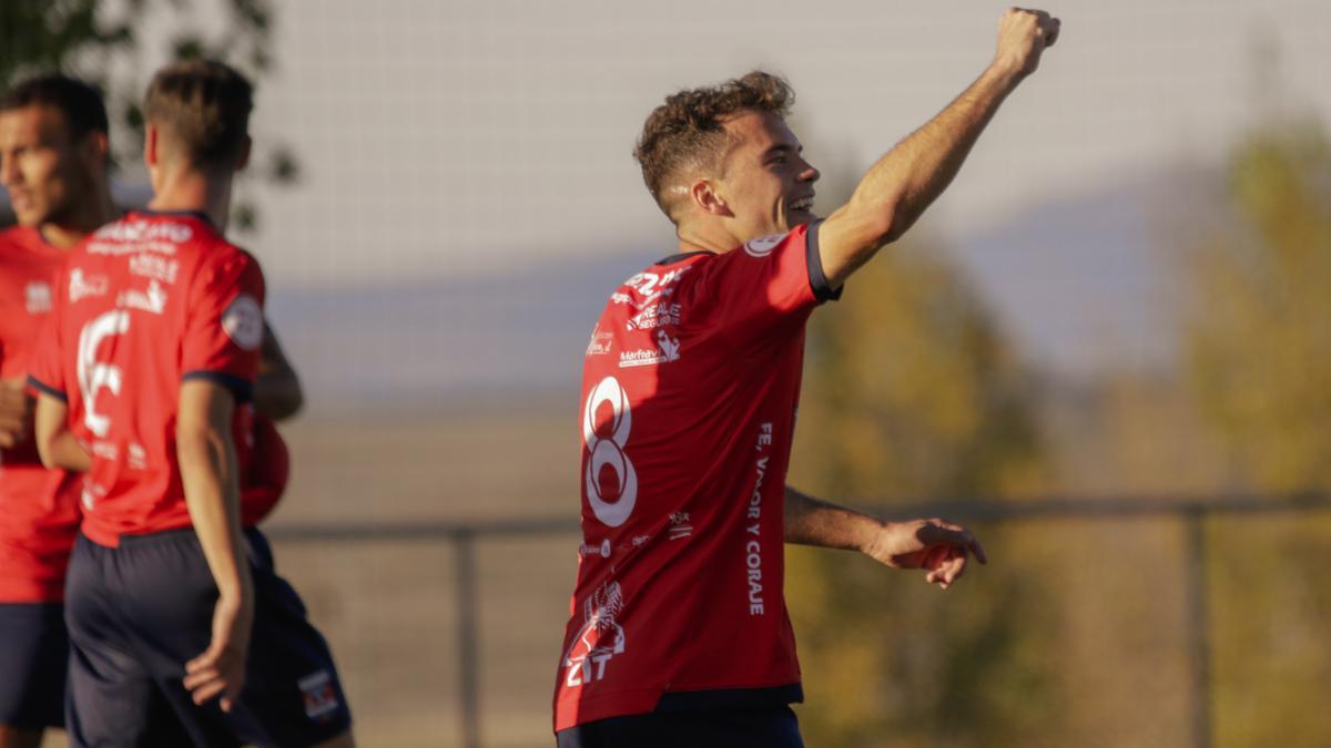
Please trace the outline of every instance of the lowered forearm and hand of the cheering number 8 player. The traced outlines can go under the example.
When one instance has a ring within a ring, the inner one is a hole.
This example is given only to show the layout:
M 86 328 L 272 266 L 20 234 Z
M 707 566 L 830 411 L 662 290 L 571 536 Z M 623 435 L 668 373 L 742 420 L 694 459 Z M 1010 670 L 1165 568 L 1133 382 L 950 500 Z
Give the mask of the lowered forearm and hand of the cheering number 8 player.
M 965 527 L 942 519 L 886 522 L 785 487 L 785 542 L 861 554 L 892 568 L 922 568 L 925 582 L 944 590 L 966 570 L 972 555 L 989 563 Z

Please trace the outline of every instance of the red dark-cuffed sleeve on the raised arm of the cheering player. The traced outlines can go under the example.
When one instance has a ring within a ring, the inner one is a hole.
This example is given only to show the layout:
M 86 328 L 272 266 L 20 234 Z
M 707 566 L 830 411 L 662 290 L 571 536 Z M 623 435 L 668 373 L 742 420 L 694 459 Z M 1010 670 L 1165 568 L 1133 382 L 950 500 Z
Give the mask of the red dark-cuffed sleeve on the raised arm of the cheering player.
M 785 234 L 749 241 L 709 268 L 699 291 L 708 297 L 713 319 L 739 334 L 805 319 L 817 305 L 840 298 L 823 273 L 819 256 L 821 222 Z

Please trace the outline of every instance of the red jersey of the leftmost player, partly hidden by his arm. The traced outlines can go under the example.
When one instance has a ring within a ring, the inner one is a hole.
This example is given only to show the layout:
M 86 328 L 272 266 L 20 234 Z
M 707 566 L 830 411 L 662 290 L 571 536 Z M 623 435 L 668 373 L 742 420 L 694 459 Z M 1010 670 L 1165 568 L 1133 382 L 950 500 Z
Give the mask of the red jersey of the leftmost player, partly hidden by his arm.
M 27 377 L 64 261 L 36 229 L 0 232 L 0 378 Z M 41 467 L 32 439 L 0 450 L 0 603 L 64 599 L 77 484 L 76 475 Z

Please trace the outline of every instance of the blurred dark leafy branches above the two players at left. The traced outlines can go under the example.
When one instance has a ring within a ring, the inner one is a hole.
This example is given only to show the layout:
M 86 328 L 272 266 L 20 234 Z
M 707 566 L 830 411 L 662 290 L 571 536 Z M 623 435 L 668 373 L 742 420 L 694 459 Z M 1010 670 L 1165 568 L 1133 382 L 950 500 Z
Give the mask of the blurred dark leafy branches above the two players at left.
M 208 56 L 261 79 L 273 68 L 269 0 L 4 0 L 0 3 L 0 87 L 60 71 L 97 85 L 112 118 L 113 160 L 128 168 L 142 148 L 140 101 L 161 60 Z M 282 144 L 256 144 L 250 174 L 289 184 L 298 162 Z M 233 225 L 253 229 L 258 214 L 241 200 Z

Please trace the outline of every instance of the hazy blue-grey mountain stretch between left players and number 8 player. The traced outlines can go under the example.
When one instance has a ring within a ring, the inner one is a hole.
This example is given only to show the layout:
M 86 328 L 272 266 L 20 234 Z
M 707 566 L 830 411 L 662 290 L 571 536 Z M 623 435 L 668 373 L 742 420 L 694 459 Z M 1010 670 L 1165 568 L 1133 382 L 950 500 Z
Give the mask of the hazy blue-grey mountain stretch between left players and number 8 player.
M 576 397 L 610 293 L 667 252 L 386 287 L 273 287 L 269 315 L 319 409 L 451 407 L 530 390 Z

